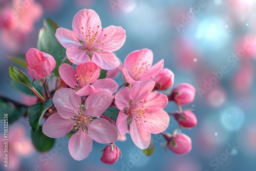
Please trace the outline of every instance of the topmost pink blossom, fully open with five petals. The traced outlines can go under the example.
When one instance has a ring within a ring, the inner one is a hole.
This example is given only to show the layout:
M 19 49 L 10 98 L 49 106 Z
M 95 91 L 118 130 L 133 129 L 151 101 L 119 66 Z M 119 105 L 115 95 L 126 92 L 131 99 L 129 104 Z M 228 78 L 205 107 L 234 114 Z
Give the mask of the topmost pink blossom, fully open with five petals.
M 56 38 L 67 49 L 67 57 L 76 65 L 93 61 L 100 68 L 110 70 L 119 66 L 112 53 L 122 47 L 126 35 L 121 27 L 101 28 L 98 14 L 91 9 L 76 13 L 72 23 L 73 31 L 58 28 Z

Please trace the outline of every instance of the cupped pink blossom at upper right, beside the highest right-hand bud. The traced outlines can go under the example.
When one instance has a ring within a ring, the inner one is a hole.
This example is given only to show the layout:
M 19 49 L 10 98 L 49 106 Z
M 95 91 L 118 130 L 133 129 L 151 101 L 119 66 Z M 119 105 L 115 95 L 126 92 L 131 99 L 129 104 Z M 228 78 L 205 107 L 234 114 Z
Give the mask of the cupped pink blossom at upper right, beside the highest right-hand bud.
M 153 79 L 163 69 L 163 59 L 152 66 L 153 52 L 150 49 L 133 51 L 126 56 L 122 73 L 130 84 Z

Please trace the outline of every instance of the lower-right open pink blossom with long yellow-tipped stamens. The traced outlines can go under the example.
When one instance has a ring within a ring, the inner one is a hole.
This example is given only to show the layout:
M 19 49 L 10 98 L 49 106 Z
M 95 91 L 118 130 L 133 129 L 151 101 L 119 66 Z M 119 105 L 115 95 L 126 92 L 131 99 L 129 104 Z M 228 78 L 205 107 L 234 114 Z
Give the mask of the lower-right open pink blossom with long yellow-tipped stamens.
M 130 134 L 133 142 L 141 149 L 150 145 L 151 133 L 159 134 L 167 129 L 169 116 L 163 110 L 168 100 L 165 95 L 151 92 L 155 87 L 152 80 L 141 81 L 132 89 L 125 87 L 117 92 L 115 102 L 121 110 L 116 125 L 121 135 L 127 131 L 130 124 Z

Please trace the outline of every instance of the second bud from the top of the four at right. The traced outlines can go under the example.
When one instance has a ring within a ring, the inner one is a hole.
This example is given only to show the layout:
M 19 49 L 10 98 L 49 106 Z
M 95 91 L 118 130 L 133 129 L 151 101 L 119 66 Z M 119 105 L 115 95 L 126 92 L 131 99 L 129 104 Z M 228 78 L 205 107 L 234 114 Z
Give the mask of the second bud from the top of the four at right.
M 185 105 L 195 99 L 196 89 L 189 83 L 178 84 L 168 96 L 168 100 L 173 100 L 177 104 Z

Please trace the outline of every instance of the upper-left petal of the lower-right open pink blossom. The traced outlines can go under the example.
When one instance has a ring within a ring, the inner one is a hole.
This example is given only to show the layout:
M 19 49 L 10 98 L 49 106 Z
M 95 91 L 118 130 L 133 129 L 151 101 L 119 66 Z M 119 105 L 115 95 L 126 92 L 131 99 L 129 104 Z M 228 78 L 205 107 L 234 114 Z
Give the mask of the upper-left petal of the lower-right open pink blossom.
M 130 89 L 128 87 L 125 87 L 116 93 L 115 102 L 119 110 L 123 110 L 124 108 L 129 108 L 129 101 L 131 100 L 129 97 L 129 94 L 130 94 Z

